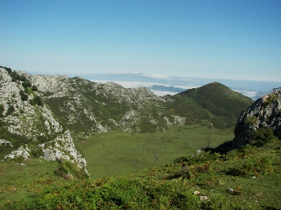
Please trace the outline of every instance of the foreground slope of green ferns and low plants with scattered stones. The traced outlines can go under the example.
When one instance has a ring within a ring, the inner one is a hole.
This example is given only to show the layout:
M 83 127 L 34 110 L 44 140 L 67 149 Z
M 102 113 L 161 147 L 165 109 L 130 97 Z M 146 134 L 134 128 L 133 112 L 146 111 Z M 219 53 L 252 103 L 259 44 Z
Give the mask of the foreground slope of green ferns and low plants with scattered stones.
M 136 174 L 53 183 L 1 209 L 280 209 L 280 165 L 281 141 L 203 152 Z

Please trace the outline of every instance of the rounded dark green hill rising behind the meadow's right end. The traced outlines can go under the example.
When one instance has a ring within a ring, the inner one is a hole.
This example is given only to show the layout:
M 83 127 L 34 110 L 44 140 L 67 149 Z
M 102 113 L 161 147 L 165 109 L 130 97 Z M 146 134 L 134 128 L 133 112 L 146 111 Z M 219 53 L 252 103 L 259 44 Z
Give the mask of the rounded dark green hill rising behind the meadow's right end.
M 230 90 L 221 83 L 209 83 L 185 90 L 171 99 L 174 102 L 166 106 L 170 113 L 211 120 L 218 128 L 234 127 L 241 111 L 252 103 L 249 97 Z

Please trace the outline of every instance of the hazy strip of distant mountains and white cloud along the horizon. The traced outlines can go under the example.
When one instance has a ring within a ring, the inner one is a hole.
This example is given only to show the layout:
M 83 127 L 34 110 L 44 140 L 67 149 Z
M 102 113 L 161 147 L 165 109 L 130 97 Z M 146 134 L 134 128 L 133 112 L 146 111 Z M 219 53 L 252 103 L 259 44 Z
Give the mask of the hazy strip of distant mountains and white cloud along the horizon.
M 88 73 L 88 74 L 67 74 L 68 76 L 81 76 L 94 82 L 106 83 L 113 81 L 123 87 L 148 87 L 158 96 L 165 94 L 177 94 L 178 92 L 202 87 L 207 83 L 217 81 L 231 90 L 240 92 L 251 99 L 259 99 L 264 94 L 268 94 L 273 88 L 280 87 L 281 83 L 254 81 L 254 80 L 226 80 L 214 78 L 186 78 L 176 76 L 150 75 L 144 73 Z

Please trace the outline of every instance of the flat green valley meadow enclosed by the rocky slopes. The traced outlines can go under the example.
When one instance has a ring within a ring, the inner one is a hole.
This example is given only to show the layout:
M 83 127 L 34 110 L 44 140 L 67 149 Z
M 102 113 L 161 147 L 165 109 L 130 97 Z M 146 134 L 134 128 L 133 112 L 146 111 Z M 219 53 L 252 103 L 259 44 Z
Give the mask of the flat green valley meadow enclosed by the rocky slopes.
M 169 164 L 179 156 L 192 155 L 200 148 L 214 148 L 233 139 L 232 130 L 209 126 L 182 125 L 157 133 L 74 133 L 87 161 L 92 179 L 139 172 Z

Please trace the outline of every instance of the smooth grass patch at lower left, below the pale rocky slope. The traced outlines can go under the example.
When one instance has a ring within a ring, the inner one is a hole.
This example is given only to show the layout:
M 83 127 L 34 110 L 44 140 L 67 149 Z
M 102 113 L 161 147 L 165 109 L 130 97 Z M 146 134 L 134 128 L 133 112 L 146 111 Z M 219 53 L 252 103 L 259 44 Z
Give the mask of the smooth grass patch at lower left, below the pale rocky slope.
M 43 158 L 0 163 L 0 204 L 41 193 L 45 186 L 59 186 L 64 179 L 54 176 L 57 161 Z

